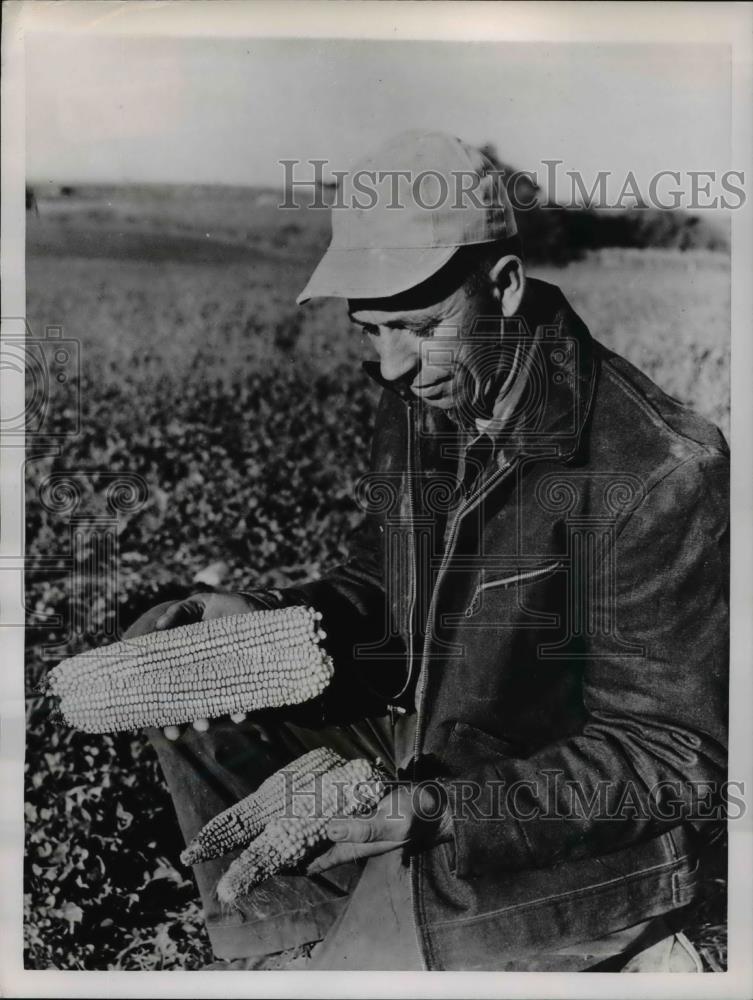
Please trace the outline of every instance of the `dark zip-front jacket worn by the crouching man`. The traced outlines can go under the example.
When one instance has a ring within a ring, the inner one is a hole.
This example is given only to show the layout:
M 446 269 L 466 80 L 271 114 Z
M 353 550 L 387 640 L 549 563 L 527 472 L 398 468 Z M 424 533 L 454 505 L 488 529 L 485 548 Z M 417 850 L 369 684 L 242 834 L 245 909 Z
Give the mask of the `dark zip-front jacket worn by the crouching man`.
M 287 595 L 324 612 L 330 719 L 417 706 L 454 828 L 411 859 L 430 969 L 691 902 L 726 778 L 725 441 L 554 286 L 521 313 L 529 388 L 469 489 L 449 421 L 385 389 L 363 537 Z

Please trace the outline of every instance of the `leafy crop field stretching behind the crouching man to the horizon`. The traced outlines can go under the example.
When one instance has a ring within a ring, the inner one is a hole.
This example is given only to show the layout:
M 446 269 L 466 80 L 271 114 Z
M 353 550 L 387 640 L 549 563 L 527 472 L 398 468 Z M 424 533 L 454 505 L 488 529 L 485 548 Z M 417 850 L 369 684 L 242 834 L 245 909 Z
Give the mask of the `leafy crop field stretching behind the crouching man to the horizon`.
M 62 328 L 73 360 L 40 425 L 63 436 L 27 445 L 26 962 L 196 969 L 211 953 L 151 748 L 59 727 L 35 684 L 213 563 L 233 589 L 344 556 L 376 398 L 367 345 L 341 303 L 295 305 L 325 212 L 234 189 L 102 189 L 40 198 L 27 222 L 28 321 L 37 339 Z M 533 273 L 727 433 L 724 253 L 602 250 Z M 113 475 L 134 491 L 114 521 Z M 73 494 L 51 502 L 56 488 Z M 717 876 L 692 928 L 709 968 L 725 963 Z

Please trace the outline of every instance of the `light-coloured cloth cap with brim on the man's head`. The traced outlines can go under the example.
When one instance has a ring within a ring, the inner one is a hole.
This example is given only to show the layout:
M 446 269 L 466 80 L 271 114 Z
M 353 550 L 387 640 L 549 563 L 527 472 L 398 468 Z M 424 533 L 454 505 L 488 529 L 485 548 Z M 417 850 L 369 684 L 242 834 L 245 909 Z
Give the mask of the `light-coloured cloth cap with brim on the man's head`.
M 481 150 L 442 132 L 404 132 L 344 175 L 332 240 L 296 301 L 388 298 L 459 247 L 516 232 L 504 179 Z

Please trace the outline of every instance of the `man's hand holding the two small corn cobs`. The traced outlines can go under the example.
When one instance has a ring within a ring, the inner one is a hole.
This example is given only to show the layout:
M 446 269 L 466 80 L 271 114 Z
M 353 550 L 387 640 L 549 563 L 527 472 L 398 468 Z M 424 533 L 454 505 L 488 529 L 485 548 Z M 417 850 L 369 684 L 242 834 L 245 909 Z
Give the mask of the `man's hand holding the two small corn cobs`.
M 335 846 L 311 862 L 309 875 L 399 847 L 431 847 L 452 838 L 452 824 L 435 784 L 401 784 L 382 799 L 373 816 L 330 820 L 327 836 Z

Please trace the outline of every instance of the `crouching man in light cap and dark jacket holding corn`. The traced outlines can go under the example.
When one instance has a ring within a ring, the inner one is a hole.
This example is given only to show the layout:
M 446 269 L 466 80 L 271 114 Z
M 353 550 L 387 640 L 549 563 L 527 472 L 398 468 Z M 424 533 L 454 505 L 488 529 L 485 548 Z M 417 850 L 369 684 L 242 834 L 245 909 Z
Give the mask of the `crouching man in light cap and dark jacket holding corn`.
M 527 277 L 501 179 L 458 139 L 354 168 L 317 296 L 347 301 L 384 389 L 350 561 L 134 632 L 311 604 L 335 681 L 284 719 L 151 736 L 187 837 L 317 743 L 399 782 L 242 918 L 213 902 L 227 862 L 198 866 L 216 953 L 700 970 L 681 925 L 725 779 L 723 437 Z

